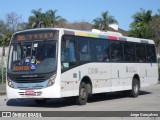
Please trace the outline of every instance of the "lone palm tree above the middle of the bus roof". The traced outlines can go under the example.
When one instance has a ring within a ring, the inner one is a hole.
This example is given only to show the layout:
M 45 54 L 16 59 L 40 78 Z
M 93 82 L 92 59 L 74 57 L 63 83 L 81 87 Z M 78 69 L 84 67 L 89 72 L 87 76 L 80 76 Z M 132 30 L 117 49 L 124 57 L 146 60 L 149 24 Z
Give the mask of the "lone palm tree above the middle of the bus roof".
M 114 16 L 109 16 L 108 11 L 102 12 L 101 17 L 93 20 L 93 27 L 101 30 L 108 30 L 109 24 L 118 24 Z

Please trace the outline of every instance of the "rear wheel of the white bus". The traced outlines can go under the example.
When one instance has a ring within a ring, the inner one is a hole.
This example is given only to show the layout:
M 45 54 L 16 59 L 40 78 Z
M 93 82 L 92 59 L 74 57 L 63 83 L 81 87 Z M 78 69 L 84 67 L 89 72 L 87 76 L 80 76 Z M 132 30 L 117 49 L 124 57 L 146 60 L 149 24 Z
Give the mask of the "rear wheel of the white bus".
M 137 78 L 133 79 L 132 90 L 130 91 L 131 97 L 138 97 L 139 95 L 140 83 Z

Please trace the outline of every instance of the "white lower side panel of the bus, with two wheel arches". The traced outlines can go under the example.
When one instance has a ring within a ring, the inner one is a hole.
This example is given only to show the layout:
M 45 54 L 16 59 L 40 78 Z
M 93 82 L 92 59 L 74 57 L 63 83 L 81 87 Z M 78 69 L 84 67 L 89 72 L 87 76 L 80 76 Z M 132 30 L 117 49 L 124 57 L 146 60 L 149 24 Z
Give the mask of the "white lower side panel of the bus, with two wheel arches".
M 114 69 L 112 69 L 111 72 L 111 68 L 113 67 Z M 148 72 L 147 76 L 145 71 L 142 71 L 144 68 Z M 91 73 L 91 69 L 93 70 L 93 73 Z M 118 70 L 120 71 L 119 73 Z M 79 78 L 77 80 L 74 79 L 74 81 L 68 81 L 67 79 L 73 80 L 74 73 L 76 73 Z M 87 63 L 62 73 L 61 80 L 63 81 L 61 81 L 61 86 L 63 87 L 63 91 L 61 97 L 77 96 L 79 94 L 78 90 L 80 82 L 85 76 L 88 76 L 91 79 L 93 94 L 131 90 L 132 80 L 136 74 L 140 77 L 141 87 L 156 84 L 158 82 L 158 77 L 155 77 L 158 76 L 157 64 L 152 64 L 151 66 L 148 63 Z

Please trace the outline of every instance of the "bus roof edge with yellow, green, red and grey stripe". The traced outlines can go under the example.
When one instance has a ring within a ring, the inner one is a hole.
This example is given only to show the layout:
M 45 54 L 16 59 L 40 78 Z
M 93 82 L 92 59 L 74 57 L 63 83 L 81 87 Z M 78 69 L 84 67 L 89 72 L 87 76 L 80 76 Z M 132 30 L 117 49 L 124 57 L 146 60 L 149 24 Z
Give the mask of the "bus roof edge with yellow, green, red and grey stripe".
M 16 32 L 15 34 L 29 32 L 29 31 L 30 32 L 41 31 L 41 30 L 59 30 L 59 31 L 62 31 L 62 34 L 65 34 L 65 35 L 75 35 L 75 36 L 82 36 L 82 37 L 92 37 L 92 38 L 155 44 L 154 41 L 150 39 L 127 37 L 127 36 L 123 36 L 121 33 L 111 32 L 111 31 L 103 32 L 99 30 L 82 31 L 82 30 L 73 30 L 73 29 L 66 29 L 66 28 L 37 28 L 37 29 L 28 29 L 28 30 L 19 31 L 19 32 Z

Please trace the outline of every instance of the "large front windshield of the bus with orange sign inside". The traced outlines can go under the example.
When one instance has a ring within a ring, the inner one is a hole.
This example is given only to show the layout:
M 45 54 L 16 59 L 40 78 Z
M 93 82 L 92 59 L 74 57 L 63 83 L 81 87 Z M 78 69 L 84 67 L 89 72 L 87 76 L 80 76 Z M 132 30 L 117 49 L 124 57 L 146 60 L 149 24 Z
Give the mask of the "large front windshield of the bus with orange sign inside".
M 8 72 L 22 74 L 49 73 L 56 70 L 56 40 L 12 43 Z

